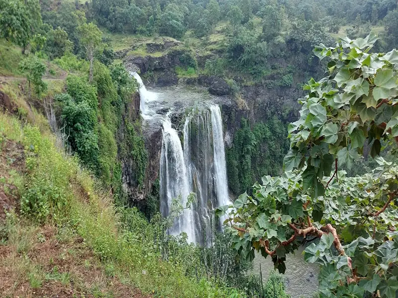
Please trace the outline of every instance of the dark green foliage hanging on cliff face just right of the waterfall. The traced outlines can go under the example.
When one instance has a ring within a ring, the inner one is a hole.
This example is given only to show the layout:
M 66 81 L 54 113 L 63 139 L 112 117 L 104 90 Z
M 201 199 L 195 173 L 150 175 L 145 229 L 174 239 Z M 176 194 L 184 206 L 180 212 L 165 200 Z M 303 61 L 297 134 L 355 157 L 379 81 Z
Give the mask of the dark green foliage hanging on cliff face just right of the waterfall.
M 241 118 L 232 147 L 226 150 L 228 186 L 235 193 L 248 190 L 265 174 L 277 175 L 288 149 L 285 127 L 278 118 L 270 117 L 253 129 Z

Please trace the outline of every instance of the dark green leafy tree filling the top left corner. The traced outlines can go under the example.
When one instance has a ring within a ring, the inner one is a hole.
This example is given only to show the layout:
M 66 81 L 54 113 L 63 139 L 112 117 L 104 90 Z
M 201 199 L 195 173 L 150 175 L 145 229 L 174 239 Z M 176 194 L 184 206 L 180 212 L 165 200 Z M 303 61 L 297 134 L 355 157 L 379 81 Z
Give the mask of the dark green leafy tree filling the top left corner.
M 31 19 L 23 2 L 0 0 L 0 37 L 22 48 L 22 54 L 29 44 Z

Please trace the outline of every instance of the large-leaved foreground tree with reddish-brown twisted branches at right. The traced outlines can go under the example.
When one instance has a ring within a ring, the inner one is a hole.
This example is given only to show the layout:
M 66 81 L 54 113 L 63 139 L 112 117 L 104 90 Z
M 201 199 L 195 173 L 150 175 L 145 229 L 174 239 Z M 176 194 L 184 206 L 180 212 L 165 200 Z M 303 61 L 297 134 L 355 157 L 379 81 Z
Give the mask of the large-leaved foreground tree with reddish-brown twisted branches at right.
M 334 48 L 315 48 L 330 59 L 328 76 L 304 86 L 300 118 L 289 125 L 286 172 L 263 177 L 253 196 L 216 210 L 231 208 L 226 229 L 238 252 L 253 259 L 261 251 L 280 272 L 287 253 L 320 238 L 304 259 L 321 266 L 322 298 L 395 298 L 398 290 L 397 158 L 378 157 L 379 166 L 363 176 L 337 171 L 339 164 L 351 167 L 366 141 L 372 156 L 386 147 L 397 156 L 398 52 L 371 54 L 376 40 L 344 38 Z

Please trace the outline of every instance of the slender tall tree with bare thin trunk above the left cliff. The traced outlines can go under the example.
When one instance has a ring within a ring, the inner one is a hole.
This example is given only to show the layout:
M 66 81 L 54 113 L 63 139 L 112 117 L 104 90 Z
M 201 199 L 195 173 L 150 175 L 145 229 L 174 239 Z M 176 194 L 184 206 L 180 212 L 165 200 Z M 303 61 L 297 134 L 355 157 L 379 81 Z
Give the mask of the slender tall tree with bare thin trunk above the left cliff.
M 93 80 L 94 52 L 101 42 L 102 32 L 94 23 L 84 23 L 78 27 L 78 31 L 81 36 L 80 42 L 86 49 L 87 60 L 90 62 L 89 82 L 91 82 Z

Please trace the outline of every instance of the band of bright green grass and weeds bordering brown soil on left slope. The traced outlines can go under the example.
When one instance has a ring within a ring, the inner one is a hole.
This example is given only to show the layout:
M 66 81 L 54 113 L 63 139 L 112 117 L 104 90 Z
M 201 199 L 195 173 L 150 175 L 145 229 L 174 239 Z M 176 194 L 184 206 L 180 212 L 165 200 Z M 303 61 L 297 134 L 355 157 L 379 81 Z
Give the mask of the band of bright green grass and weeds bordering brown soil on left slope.
M 76 157 L 60 152 L 49 132 L 40 132 L 30 124 L 21 126 L 17 119 L 0 114 L 0 134 L 20 142 L 27 155 L 28 173 L 25 187 L 20 190 L 22 214 L 82 236 L 102 264 L 108 266 L 108 272 L 112 266 L 111 271 L 126 283 L 155 297 L 243 297 L 237 290 L 209 282 L 201 274 L 187 274 L 187 263 L 182 260 L 192 251 L 192 244 L 173 247 L 169 260 L 164 260 L 162 250 L 149 242 L 148 236 L 159 225 L 149 224 L 134 209 L 116 212 L 113 198 L 101 183 L 79 165 Z M 134 230 L 123 224 L 125 212 Z M 195 256 L 192 258 L 195 260 Z M 32 287 L 40 287 L 42 280 L 34 270 L 26 271 L 28 279 Z

